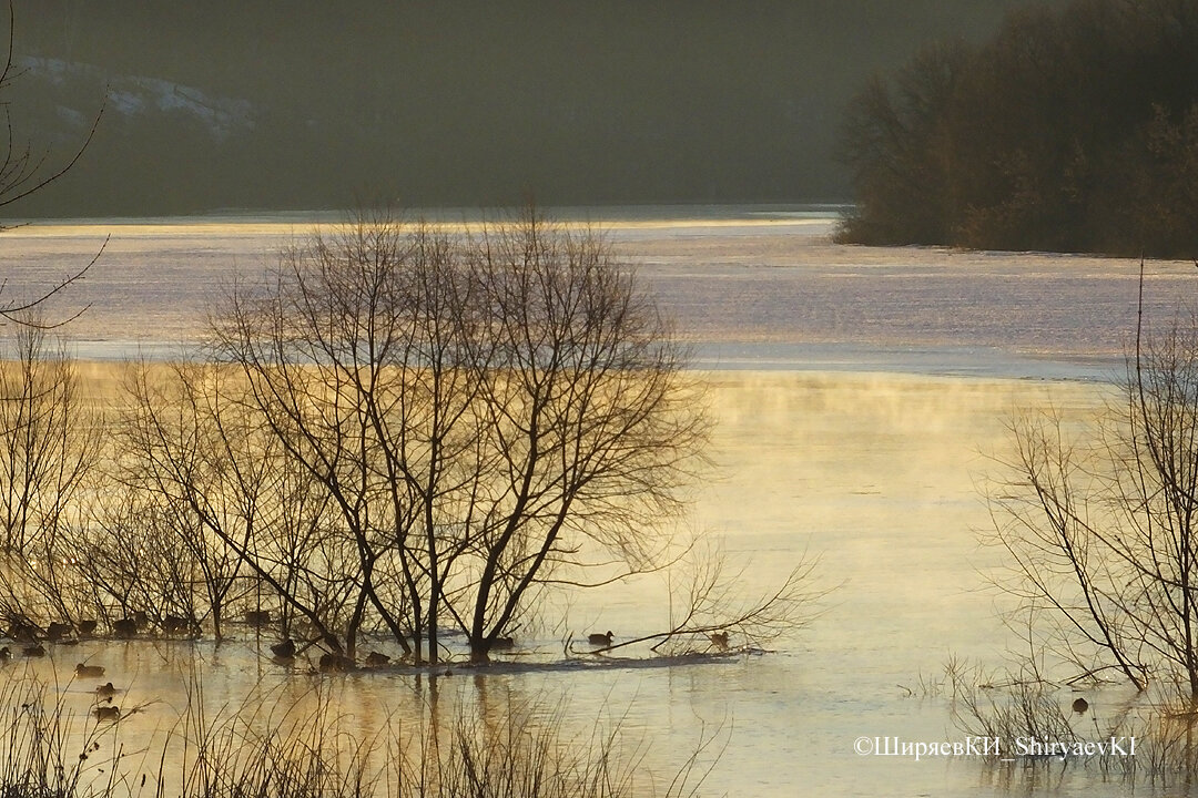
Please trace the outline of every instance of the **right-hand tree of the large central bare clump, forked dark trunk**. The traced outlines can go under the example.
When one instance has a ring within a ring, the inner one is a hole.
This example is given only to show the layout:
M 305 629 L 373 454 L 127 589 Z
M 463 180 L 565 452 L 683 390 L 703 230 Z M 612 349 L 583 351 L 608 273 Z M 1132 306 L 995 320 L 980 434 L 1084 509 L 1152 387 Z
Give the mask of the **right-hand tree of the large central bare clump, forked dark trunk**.
M 454 596 L 476 659 L 562 571 L 665 565 L 664 522 L 707 433 L 685 349 L 599 237 L 528 212 L 488 232 L 480 267 L 498 354 L 483 373 L 485 468 L 460 519 L 477 571 Z

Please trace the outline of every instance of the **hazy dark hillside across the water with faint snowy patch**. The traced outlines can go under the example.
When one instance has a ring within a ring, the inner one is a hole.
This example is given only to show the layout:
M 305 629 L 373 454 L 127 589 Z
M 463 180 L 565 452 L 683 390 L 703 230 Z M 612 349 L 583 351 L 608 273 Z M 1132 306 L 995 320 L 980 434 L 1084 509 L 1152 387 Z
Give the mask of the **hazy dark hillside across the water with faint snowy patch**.
M 1019 0 L 16 0 L 26 215 L 839 201 L 845 105 Z

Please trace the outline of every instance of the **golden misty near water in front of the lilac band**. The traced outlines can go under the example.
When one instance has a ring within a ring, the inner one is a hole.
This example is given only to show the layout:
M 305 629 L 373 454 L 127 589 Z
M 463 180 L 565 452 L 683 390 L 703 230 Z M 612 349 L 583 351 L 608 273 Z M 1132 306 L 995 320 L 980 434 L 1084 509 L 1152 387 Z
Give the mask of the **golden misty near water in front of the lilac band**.
M 113 390 L 109 368 L 84 372 Z M 108 668 L 127 689 L 117 702 L 140 707 L 111 733 L 143 749 L 175 726 L 186 684 L 198 678 L 208 718 L 241 709 L 266 723 L 326 701 L 359 736 L 381 727 L 418 736 L 462 715 L 501 730 L 513 707 L 533 707 L 533 724 L 559 713 L 581 738 L 597 720 L 619 724 L 652 744 L 645 766 L 659 773 L 677 767 L 704 730 L 727 729 L 706 791 L 714 794 L 792 796 L 800 786 L 882 794 L 896 779 L 933 791 L 975 782 L 973 762 L 909 779 L 894 762 L 854 756 L 851 742 L 863 733 L 943 737 L 943 707 L 904 701 L 896 684 L 938 670 L 950 651 L 993 662 L 1005 646 L 981 573 L 998 562 L 975 541 L 990 523 L 980 483 L 1010 443 L 1006 420 L 1015 408 L 1048 403 L 1084 418 L 1107 389 L 884 373 L 727 371 L 707 379 L 718 421 L 713 462 L 686 523 L 748 564 L 745 590 L 775 584 L 804 552 L 821 555 L 824 584 L 841 585 L 822 617 L 774 653 L 659 670 L 486 676 L 449 665 L 437 671 L 448 676 L 322 677 L 303 665 L 283 669 L 246 639 L 219 647 L 85 642 L 53 648 L 53 662 L 32 668 L 56 674 L 80 712 L 92 698 L 67 684 L 74 663 Z M 668 620 L 662 591 L 661 579 L 649 579 L 577 596 L 564 623 L 545 619 L 521 644 L 552 659 L 563 628 L 611 628 L 617 639 L 660 628 Z

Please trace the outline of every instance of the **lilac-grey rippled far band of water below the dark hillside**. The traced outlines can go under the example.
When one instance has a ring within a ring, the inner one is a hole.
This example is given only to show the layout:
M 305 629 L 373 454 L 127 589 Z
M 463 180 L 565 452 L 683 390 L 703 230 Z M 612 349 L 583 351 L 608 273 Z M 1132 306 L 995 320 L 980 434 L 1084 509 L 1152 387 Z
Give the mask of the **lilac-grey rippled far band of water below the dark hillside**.
M 1073 376 L 1118 359 L 1135 322 L 1138 263 L 1125 258 L 840 246 L 827 218 L 785 214 L 616 213 L 595 225 L 639 264 L 708 367 Z M 71 329 L 80 352 L 176 345 L 202 329 L 223 282 L 261 274 L 310 227 L 302 215 L 34 224 L 5 232 L 5 296 L 81 268 L 111 236 L 56 303 L 62 313 L 91 305 Z M 1192 263 L 1150 262 L 1149 310 L 1167 318 L 1196 281 Z

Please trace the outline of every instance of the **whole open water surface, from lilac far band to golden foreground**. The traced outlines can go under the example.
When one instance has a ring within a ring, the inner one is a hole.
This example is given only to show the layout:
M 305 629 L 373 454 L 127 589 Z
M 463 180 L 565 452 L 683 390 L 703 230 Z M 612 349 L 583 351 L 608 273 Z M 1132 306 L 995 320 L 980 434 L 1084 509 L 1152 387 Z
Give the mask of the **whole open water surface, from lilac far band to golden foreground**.
M 110 231 L 104 256 L 61 305 L 92 303 L 71 335 L 85 357 L 159 352 L 192 341 L 213 286 L 261 269 L 303 223 L 34 225 L 6 233 L 0 268 L 8 296 L 20 296 L 85 262 Z M 976 760 L 861 757 L 853 745 L 860 736 L 961 737 L 942 699 L 908 698 L 903 686 L 937 672 L 950 653 L 1002 664 L 1002 601 L 985 587 L 1000 564 L 976 543 L 991 523 L 981 486 L 998 469 L 1012 408 L 1052 402 L 1084 414 L 1101 403 L 1101 379 L 1119 368 L 1133 321 L 1138 264 L 845 248 L 829 242 L 829 221 L 785 214 L 617 214 L 605 226 L 695 342 L 698 367 L 710 370 L 713 470 L 688 523 L 748 566 L 746 590 L 782 578 L 805 552 L 822 558 L 823 584 L 839 587 L 821 617 L 767 656 L 456 671 L 437 680 L 438 690 L 492 711 L 509 699 L 562 701 L 576 729 L 619 718 L 643 735 L 646 761 L 660 772 L 704 730 L 722 729 L 726 747 L 704 794 L 1008 794 L 1010 774 Z M 1185 263 L 1148 272 L 1157 319 L 1198 279 Z M 522 644 L 550 657 L 565 629 L 648 632 L 665 620 L 662 590 L 646 581 L 577 598 L 562 625 L 550 620 Z M 332 683 L 264 662 L 249 641 L 91 642 L 36 668 L 65 676 L 85 656 L 129 686 L 127 705 L 145 705 L 120 725 L 131 738 L 173 723 L 192 663 L 213 706 L 262 681 L 286 690 Z M 429 684 L 410 675 L 338 677 L 332 689 L 364 724 L 428 711 Z M 1093 703 L 1099 718 L 1113 712 L 1102 696 Z M 1063 768 L 1053 790 L 1123 792 L 1076 767 Z

